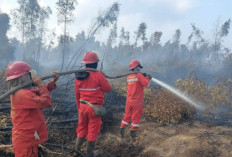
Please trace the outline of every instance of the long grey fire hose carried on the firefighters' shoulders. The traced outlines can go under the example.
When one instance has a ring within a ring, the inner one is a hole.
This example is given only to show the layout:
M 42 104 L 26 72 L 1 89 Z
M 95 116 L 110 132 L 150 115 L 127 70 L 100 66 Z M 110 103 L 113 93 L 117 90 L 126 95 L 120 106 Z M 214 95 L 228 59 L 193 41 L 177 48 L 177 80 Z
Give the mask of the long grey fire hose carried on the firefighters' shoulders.
M 92 69 L 92 68 L 85 68 L 85 69 L 77 69 L 77 70 L 70 70 L 70 71 L 60 72 L 60 73 L 58 73 L 58 75 L 62 76 L 62 75 L 68 75 L 68 74 L 73 74 L 73 73 L 77 73 L 77 72 L 85 72 L 85 71 L 98 71 L 98 70 Z M 124 75 L 118 75 L 118 76 L 114 76 L 114 77 L 113 76 L 108 76 L 106 74 L 104 74 L 104 75 L 108 79 L 116 79 L 116 78 L 121 78 L 121 77 L 128 76 L 130 74 L 134 74 L 134 73 L 127 73 L 127 74 L 124 74 Z M 50 75 L 42 76 L 41 80 L 46 80 L 46 79 L 49 79 L 49 78 L 53 78 L 56 75 L 57 74 L 50 74 Z M 2 100 L 4 100 L 5 98 L 7 98 L 8 96 L 10 96 L 11 94 L 14 94 L 19 89 L 24 88 L 24 87 L 26 87 L 28 85 L 31 85 L 32 83 L 33 83 L 32 81 L 29 81 L 29 82 L 26 82 L 26 83 L 24 83 L 22 85 L 19 85 L 17 87 L 12 88 L 11 90 L 7 91 L 5 94 L 0 96 L 0 102 Z

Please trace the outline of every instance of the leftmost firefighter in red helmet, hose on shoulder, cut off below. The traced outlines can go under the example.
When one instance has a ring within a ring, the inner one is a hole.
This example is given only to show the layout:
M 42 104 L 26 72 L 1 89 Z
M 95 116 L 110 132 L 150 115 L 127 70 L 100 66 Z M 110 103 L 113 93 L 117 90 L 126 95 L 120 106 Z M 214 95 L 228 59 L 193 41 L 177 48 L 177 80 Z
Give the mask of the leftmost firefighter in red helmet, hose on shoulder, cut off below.
M 44 85 L 41 78 L 32 77 L 31 72 L 31 67 L 22 61 L 12 62 L 6 69 L 9 90 L 31 80 L 39 87 L 32 89 L 32 85 L 29 85 L 10 96 L 12 144 L 15 157 L 38 157 L 38 145 L 48 140 L 41 109 L 51 107 L 49 91 L 56 88 L 55 82 L 58 76 Z

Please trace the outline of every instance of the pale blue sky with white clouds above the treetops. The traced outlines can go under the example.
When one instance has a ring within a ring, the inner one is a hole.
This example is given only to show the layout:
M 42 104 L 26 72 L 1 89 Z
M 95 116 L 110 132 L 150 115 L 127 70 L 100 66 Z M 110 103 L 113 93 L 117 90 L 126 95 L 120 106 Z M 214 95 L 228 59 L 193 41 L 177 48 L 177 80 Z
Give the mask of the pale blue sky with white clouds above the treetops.
M 57 24 L 57 11 L 55 3 L 57 0 L 38 0 L 41 6 L 49 6 L 53 14 L 48 22 L 49 30 L 55 30 L 57 34 L 62 33 L 63 26 Z M 115 0 L 77 0 L 75 21 L 68 26 L 69 34 L 73 37 L 81 31 L 88 31 L 91 22 L 98 16 L 99 12 L 107 9 Z M 194 23 L 204 32 L 206 39 L 212 40 L 213 32 L 217 23 L 222 25 L 226 20 L 232 18 L 231 0 L 119 0 L 120 14 L 118 18 L 118 31 L 124 27 L 134 36 L 141 22 L 147 24 L 147 37 L 155 31 L 162 31 L 162 43 L 172 39 L 175 30 L 182 32 L 181 42 L 186 43 L 191 33 L 191 24 Z M 2 12 L 10 13 L 17 8 L 17 0 L 0 0 Z M 231 31 L 231 29 L 230 29 Z M 105 42 L 109 29 L 100 31 L 96 38 Z M 232 32 L 225 39 L 225 45 L 232 48 Z M 15 27 L 8 31 L 9 37 L 20 35 Z

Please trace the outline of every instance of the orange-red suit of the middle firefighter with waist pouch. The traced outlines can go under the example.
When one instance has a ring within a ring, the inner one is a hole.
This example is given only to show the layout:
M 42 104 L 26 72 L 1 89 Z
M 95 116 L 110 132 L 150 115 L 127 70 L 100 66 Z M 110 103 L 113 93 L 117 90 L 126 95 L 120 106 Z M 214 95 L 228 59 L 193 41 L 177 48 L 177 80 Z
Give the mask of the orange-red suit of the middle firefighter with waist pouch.
M 101 72 L 89 71 L 88 78 L 75 79 L 75 95 L 79 113 L 77 137 L 96 141 L 102 125 L 101 116 L 97 116 L 93 108 L 88 104 L 81 103 L 80 99 L 95 106 L 102 106 L 104 104 L 103 92 L 109 92 L 109 90 L 110 84 Z

